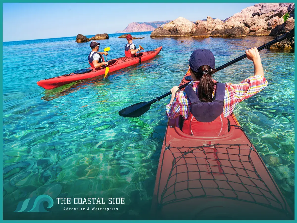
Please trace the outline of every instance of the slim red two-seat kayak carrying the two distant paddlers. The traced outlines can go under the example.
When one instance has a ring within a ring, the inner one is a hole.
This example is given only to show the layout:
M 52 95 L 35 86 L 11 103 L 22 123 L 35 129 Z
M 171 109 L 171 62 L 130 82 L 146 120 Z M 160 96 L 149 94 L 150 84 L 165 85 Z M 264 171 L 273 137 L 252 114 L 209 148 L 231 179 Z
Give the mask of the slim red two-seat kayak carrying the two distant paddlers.
M 109 67 L 109 73 L 149 60 L 157 56 L 161 50 L 162 50 L 162 46 L 152 51 L 139 53 L 137 54 L 137 57 L 132 57 L 132 58 L 120 57 L 117 59 L 109 60 L 107 65 Z M 99 68 L 89 67 L 87 69 L 75 71 L 74 73 L 37 81 L 37 84 L 40 87 L 43 87 L 45 89 L 53 89 L 56 87 L 63 86 L 65 84 L 72 83 L 74 81 L 85 80 L 88 78 L 93 78 L 104 74 L 105 74 L 105 67 L 99 67 Z

